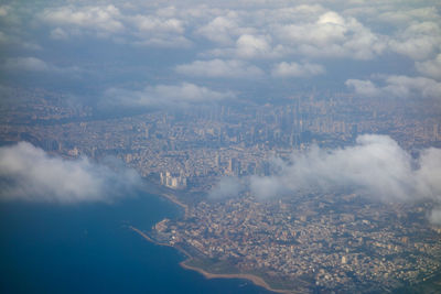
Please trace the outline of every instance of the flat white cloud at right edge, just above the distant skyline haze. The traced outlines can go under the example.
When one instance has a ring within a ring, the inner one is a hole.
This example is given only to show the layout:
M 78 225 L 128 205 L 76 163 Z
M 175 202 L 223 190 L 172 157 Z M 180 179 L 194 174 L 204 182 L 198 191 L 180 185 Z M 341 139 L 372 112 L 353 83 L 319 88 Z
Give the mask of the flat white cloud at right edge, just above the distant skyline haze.
M 365 97 L 440 98 L 441 83 L 426 77 L 379 76 L 383 85 L 372 80 L 348 79 L 346 86 Z

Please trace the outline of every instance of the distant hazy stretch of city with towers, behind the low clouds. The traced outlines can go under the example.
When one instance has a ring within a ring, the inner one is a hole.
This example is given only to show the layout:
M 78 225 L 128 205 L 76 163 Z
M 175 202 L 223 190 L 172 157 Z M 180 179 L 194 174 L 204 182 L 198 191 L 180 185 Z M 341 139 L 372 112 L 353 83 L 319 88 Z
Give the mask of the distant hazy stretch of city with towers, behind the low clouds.
M 319 97 L 297 97 L 283 106 L 201 106 L 119 118 L 94 118 L 85 107 L 69 112 L 67 107 L 54 106 L 52 109 L 69 115 L 63 119 L 36 115 L 34 121 L 14 124 L 8 118 L 13 117 L 11 111 L 3 117 L 0 137 L 8 142 L 29 141 L 68 157 L 117 156 L 142 176 L 166 186 L 201 190 L 225 175 L 269 175 L 272 157 L 289 159 L 293 150 L 308 150 L 311 144 L 352 144 L 361 133 L 389 134 L 408 151 L 441 145 L 433 109 L 418 109 L 422 117 L 398 101 L 337 94 Z M 46 105 L 51 102 L 37 106 Z M 37 106 L 31 105 L 28 115 Z M 25 113 L 23 109 L 19 112 Z M 164 176 L 168 172 L 179 176 L 172 179 Z

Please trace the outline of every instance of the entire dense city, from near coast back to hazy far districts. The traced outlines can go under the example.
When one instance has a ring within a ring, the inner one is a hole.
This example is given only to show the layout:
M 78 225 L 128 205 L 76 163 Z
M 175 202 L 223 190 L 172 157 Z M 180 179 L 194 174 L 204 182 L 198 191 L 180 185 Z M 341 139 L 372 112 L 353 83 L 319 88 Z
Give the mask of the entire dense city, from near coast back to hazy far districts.
M 18 95 L 25 100 L 29 92 Z M 418 155 L 441 144 L 437 109 L 309 92 L 275 105 L 99 117 L 63 105 L 56 94 L 32 95 L 39 102 L 3 111 L 3 144 L 28 141 L 68 159 L 121 159 L 186 208 L 148 233 L 181 249 L 192 266 L 255 274 L 288 292 L 389 292 L 439 274 L 441 228 L 424 214 L 435 204 L 381 203 L 351 188 L 268 200 L 249 189 L 206 196 L 222 177 L 270 176 L 278 172 L 273 159 L 312 145 L 342 148 L 363 133 L 388 134 Z

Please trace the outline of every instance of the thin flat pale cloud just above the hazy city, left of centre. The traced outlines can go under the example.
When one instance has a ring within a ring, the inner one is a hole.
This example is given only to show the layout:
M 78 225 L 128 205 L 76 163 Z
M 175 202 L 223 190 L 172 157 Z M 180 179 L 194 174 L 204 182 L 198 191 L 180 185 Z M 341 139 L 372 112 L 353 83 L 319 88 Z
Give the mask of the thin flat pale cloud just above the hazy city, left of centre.
M 142 90 L 107 89 L 104 106 L 125 107 L 185 107 L 194 104 L 213 104 L 235 98 L 230 91 L 219 92 L 190 83 L 148 86 Z

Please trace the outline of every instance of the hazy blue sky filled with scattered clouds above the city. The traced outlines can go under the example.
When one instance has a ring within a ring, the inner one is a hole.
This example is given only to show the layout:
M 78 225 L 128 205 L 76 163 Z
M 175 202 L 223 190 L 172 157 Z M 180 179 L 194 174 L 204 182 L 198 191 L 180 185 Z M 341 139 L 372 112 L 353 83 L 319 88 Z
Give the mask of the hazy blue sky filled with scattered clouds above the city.
M 110 107 L 265 102 L 313 86 L 441 97 L 439 1 L 3 2 L 2 87 Z

